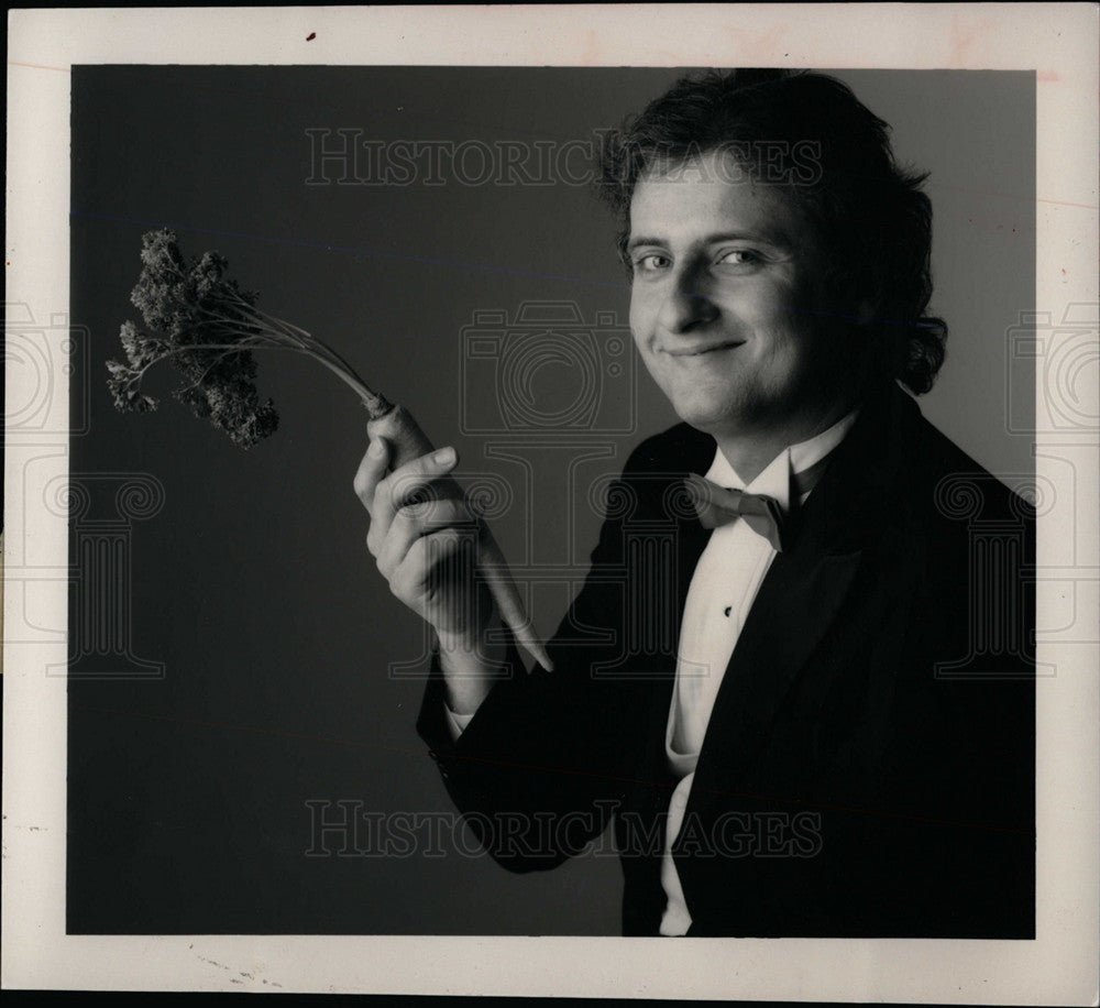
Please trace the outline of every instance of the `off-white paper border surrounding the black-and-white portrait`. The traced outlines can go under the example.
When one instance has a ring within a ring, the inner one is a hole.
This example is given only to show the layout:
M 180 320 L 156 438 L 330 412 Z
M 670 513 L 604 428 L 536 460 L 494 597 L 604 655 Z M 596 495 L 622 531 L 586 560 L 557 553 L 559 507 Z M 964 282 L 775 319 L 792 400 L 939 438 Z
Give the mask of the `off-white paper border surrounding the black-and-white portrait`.
M 8 37 L 6 302 L 34 317 L 68 304 L 70 67 L 100 63 L 1030 69 L 1038 123 L 1035 304 L 1055 314 L 1098 304 L 1094 4 L 15 10 Z M 19 401 L 18 380 L 9 373 L 9 402 Z M 55 390 L 59 403 L 67 391 L 64 383 Z M 1053 391 L 1037 374 L 1037 399 Z M 1084 405 L 1097 415 L 1096 403 Z M 1057 462 L 1071 454 L 1081 538 L 1077 567 L 1062 573 L 1094 600 L 1100 438 L 1040 434 L 1037 441 L 1036 475 L 1056 486 L 1065 472 Z M 66 437 L 50 447 L 66 450 Z M 16 463 L 9 450 L 8 539 L 13 528 L 33 530 L 63 568 L 66 519 L 23 513 Z M 1058 535 L 1041 524 L 1041 572 Z M 56 589 L 51 616 L 65 625 L 64 582 Z M 1041 577 L 1040 625 L 1056 590 Z M 8 625 L 19 603 L 8 576 L 4 600 Z M 1084 643 L 1038 645 L 1040 660 L 1059 673 L 1037 683 L 1034 942 L 67 935 L 66 680 L 43 673 L 65 662 L 65 646 L 6 646 L 2 985 L 1096 1004 L 1100 719 L 1094 623 L 1090 629 Z M 210 961 L 227 968 L 211 969 Z

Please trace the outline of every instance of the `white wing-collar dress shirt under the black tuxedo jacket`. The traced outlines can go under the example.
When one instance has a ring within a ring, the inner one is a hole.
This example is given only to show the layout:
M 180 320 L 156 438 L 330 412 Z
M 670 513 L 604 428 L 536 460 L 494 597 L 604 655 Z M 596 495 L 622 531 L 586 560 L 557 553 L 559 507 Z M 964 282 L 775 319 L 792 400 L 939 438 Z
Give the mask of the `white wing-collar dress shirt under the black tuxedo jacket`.
M 706 478 L 730 490 L 773 497 L 785 512 L 791 503 L 792 478 L 836 448 L 855 423 L 857 413 L 853 410 L 822 434 L 781 451 L 748 486 L 721 450 L 715 451 Z M 800 503 L 809 495 L 803 494 Z M 669 766 L 680 777 L 669 804 L 661 863 L 661 885 L 668 898 L 660 927 L 664 935 L 686 934 L 691 927 L 691 913 L 672 859 L 672 846 L 683 824 L 695 762 L 718 687 L 774 557 L 776 550 L 765 536 L 754 532 L 746 522 L 730 522 L 711 534 L 688 589 L 664 739 Z M 447 716 L 451 734 L 458 738 L 474 715 L 455 714 L 447 708 Z

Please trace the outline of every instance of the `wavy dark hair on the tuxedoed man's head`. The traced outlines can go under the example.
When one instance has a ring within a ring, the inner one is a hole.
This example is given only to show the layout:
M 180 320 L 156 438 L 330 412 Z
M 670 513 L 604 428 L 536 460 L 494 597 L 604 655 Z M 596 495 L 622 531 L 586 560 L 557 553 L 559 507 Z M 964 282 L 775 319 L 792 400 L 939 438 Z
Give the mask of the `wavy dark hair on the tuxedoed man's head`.
M 708 70 L 682 77 L 607 135 L 598 188 L 619 215 L 650 169 L 729 150 L 755 180 L 794 199 L 827 252 L 828 311 L 865 352 L 867 380 L 927 392 L 944 362 L 947 326 L 926 315 L 932 297 L 927 177 L 903 168 L 890 127 L 839 80 L 809 70 Z

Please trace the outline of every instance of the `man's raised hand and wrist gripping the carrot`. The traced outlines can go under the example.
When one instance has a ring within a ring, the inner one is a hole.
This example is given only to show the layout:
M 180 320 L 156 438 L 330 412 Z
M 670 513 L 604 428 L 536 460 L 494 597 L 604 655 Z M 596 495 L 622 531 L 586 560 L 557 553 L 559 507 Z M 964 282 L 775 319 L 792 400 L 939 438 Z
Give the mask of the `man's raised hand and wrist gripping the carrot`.
M 436 631 L 451 708 L 469 713 L 487 692 L 482 639 L 493 602 L 475 577 L 482 523 L 450 476 L 453 448 L 387 473 L 391 447 L 375 436 L 353 486 L 371 516 L 366 548 L 391 592 Z

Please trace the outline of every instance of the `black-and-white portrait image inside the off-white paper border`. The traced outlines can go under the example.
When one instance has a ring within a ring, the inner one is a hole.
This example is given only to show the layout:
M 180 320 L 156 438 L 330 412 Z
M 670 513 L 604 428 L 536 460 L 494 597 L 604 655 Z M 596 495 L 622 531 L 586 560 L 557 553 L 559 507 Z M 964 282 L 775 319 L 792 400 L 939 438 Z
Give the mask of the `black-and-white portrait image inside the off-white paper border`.
M 69 933 L 1034 939 L 1034 73 L 72 131 Z

